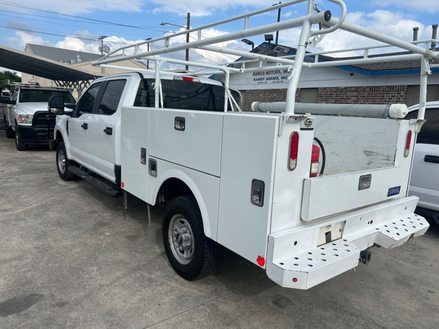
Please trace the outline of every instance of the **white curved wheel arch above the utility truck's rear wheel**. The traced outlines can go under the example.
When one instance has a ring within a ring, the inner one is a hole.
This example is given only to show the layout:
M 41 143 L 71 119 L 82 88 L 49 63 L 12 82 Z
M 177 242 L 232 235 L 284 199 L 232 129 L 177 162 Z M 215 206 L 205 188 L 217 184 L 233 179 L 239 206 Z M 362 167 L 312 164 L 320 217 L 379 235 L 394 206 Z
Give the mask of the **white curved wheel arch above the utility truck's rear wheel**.
M 183 195 L 192 194 L 197 200 L 198 207 L 203 219 L 203 227 L 205 236 L 216 240 L 216 236 L 212 236 L 212 231 L 209 221 L 209 213 L 206 207 L 205 200 L 202 193 L 197 187 L 197 184 L 191 179 L 189 175 L 178 169 L 169 169 L 163 172 L 162 175 L 157 177 L 158 182 L 155 184 L 152 194 L 148 197 L 149 203 L 155 205 L 156 202 L 160 202 L 160 197 L 163 196 L 163 192 L 166 192 L 167 188 L 170 188 L 169 197 L 180 197 Z M 150 180 L 150 183 L 154 180 Z M 170 199 L 172 200 L 172 199 Z M 164 201 L 166 200 L 166 196 Z

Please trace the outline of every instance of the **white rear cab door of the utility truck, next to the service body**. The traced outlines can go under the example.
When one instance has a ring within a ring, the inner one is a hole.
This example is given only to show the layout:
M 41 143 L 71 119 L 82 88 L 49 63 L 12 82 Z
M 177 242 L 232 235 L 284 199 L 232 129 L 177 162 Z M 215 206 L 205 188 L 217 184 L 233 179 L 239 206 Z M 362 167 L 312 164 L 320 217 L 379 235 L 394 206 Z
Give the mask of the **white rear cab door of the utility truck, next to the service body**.
M 88 129 L 92 170 L 112 181 L 115 181 L 115 128 L 125 85 L 126 79 L 120 78 L 104 82 Z

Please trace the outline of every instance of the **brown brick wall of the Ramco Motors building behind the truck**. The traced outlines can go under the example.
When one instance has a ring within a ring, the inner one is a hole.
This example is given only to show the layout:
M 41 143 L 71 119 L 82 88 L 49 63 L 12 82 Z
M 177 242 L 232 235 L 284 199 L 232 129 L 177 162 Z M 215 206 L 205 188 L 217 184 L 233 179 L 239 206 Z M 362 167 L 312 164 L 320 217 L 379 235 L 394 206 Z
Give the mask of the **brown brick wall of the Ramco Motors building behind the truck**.
M 317 103 L 333 104 L 388 104 L 407 102 L 408 86 L 321 87 L 317 90 Z M 251 111 L 252 102 L 284 102 L 287 89 L 246 90 L 244 111 Z M 301 100 L 296 91 L 296 102 Z

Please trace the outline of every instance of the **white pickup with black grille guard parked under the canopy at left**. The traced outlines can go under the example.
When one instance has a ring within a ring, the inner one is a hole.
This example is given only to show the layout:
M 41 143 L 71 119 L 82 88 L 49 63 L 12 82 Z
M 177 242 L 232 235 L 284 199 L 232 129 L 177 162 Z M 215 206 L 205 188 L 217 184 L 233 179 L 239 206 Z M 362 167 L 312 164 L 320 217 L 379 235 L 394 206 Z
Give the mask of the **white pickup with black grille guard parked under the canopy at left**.
M 7 104 L 4 110 L 6 137 L 15 137 L 17 150 L 29 148 L 29 144 L 47 144 L 53 140 L 54 114 L 47 111 L 47 101 L 52 95 L 61 94 L 66 103 L 75 104 L 72 94 L 61 88 L 17 84 L 11 100 L 0 100 Z

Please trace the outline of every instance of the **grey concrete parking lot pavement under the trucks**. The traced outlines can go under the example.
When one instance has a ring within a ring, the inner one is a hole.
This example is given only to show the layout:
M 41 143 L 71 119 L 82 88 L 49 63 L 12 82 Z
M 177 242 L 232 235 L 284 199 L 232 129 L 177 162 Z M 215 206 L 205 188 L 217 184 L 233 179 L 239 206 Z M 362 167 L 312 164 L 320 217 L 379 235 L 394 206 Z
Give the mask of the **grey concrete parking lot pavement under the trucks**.
M 162 244 L 162 208 L 58 177 L 47 147 L 0 132 L 0 328 L 438 328 L 439 229 L 310 290 L 282 288 L 226 250 L 187 282 Z

